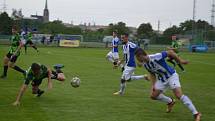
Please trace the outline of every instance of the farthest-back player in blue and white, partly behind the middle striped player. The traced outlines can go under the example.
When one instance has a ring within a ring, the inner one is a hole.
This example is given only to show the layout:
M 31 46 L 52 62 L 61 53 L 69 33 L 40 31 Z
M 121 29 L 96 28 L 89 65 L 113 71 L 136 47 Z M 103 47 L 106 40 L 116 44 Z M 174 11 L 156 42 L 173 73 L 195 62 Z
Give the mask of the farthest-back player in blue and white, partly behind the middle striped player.
M 119 45 L 119 38 L 117 37 L 117 31 L 113 31 L 113 40 L 110 46 L 112 50 L 107 54 L 106 58 L 108 61 L 113 63 L 114 67 L 117 66 L 117 62 L 119 61 L 118 45 Z

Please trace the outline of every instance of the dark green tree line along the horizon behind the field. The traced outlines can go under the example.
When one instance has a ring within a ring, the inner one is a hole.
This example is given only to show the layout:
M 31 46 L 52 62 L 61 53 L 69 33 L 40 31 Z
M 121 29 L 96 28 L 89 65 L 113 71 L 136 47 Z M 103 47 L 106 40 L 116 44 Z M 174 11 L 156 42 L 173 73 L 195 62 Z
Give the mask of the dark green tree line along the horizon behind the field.
M 14 25 L 20 30 L 23 27 L 28 27 L 43 34 L 83 35 L 85 39 L 92 41 L 102 41 L 104 36 L 111 35 L 114 30 L 117 30 L 119 35 L 124 32 L 132 33 L 124 22 L 110 23 L 107 28 L 92 31 L 83 30 L 78 26 L 66 27 L 60 20 L 43 23 L 38 20 L 23 19 L 20 11 L 13 11 L 11 17 L 6 12 L 0 14 L 0 35 L 11 35 L 11 28 Z M 173 35 L 201 35 L 205 41 L 215 41 L 214 27 L 204 20 L 187 20 L 181 22 L 179 26 L 174 25 L 167 28 L 163 33 L 153 30 L 150 23 L 142 23 L 137 28 L 137 32 L 133 33 L 134 39 L 150 39 L 155 44 L 169 44 Z

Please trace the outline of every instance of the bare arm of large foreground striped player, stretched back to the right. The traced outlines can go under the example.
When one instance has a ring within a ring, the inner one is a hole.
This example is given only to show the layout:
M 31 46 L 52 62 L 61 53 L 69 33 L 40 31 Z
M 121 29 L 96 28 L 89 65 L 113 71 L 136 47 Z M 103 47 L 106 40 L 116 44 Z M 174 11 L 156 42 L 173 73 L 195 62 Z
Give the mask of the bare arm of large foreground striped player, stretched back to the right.
M 187 60 L 180 58 L 173 50 L 168 50 L 167 56 L 170 58 L 173 58 L 176 62 L 178 62 L 180 64 L 188 64 L 189 63 Z

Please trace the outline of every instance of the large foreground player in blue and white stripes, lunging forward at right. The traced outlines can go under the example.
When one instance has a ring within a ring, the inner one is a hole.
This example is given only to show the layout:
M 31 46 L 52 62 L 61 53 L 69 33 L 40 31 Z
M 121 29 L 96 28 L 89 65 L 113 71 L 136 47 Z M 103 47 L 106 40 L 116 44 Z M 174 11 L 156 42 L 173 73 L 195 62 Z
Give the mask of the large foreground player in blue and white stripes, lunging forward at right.
M 201 114 L 196 110 L 189 97 L 182 93 L 179 76 L 176 73 L 176 70 L 166 63 L 165 58 L 173 58 L 180 64 L 188 64 L 188 61 L 178 57 L 172 50 L 148 55 L 143 49 L 138 48 L 135 55 L 137 60 L 142 63 L 150 73 L 150 80 L 152 81 L 151 98 L 166 103 L 167 113 L 171 112 L 175 100 L 164 95 L 164 91 L 167 88 L 170 88 L 177 99 L 181 100 L 181 102 L 183 102 L 183 104 L 192 112 L 195 121 L 200 121 Z

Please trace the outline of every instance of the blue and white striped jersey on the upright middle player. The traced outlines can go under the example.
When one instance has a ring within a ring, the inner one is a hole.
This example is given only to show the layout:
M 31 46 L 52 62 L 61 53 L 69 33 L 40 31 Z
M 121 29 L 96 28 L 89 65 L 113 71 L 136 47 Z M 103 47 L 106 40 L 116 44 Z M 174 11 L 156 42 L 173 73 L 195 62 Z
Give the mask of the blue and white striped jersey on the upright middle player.
M 125 66 L 136 67 L 136 63 L 135 63 L 136 49 L 137 49 L 137 45 L 132 42 L 128 42 L 127 44 L 123 45 Z

